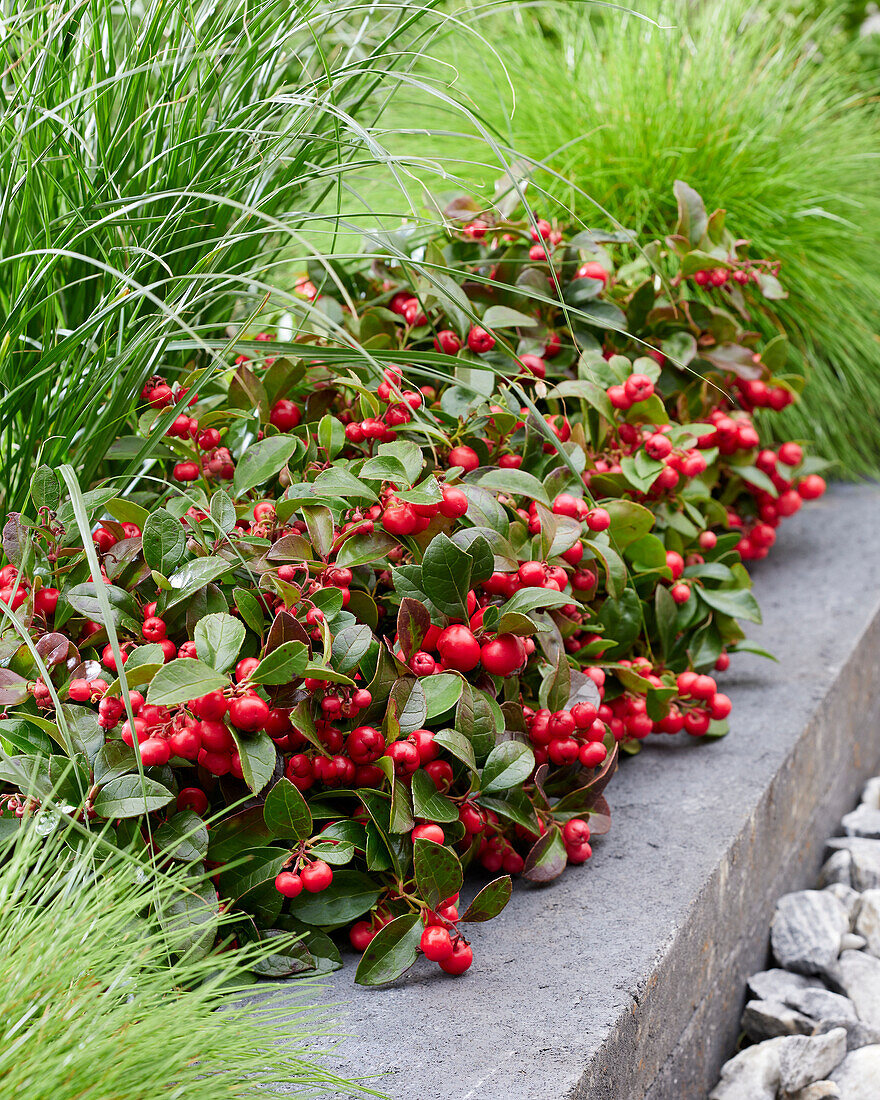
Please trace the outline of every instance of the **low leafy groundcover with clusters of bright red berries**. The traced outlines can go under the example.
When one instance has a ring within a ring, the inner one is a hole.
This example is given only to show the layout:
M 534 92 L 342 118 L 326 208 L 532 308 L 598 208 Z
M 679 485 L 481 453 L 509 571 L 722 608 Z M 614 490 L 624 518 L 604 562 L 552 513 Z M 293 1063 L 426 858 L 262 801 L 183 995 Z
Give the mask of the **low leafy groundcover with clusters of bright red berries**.
M 37 470 L 3 530 L 3 816 L 204 860 L 194 924 L 301 933 L 288 974 L 346 935 L 376 985 L 463 972 L 512 876 L 583 864 L 619 752 L 725 734 L 744 561 L 825 486 L 763 441 L 802 384 L 752 331 L 784 272 L 678 197 L 645 250 L 453 202 L 304 276 L 308 332 L 151 377 L 103 481 Z

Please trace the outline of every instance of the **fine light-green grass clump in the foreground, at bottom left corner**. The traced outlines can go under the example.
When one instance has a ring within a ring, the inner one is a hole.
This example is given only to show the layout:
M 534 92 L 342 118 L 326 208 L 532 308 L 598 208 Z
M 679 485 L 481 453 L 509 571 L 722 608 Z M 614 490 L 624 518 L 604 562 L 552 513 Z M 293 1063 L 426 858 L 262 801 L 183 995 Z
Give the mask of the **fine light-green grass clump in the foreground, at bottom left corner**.
M 243 1003 L 244 965 L 265 947 L 178 957 L 173 922 L 163 931 L 146 919 L 179 909 L 191 881 L 100 838 L 62 828 L 44 838 L 47 820 L 0 818 L 0 1096 L 362 1094 L 314 1053 L 312 1010 Z

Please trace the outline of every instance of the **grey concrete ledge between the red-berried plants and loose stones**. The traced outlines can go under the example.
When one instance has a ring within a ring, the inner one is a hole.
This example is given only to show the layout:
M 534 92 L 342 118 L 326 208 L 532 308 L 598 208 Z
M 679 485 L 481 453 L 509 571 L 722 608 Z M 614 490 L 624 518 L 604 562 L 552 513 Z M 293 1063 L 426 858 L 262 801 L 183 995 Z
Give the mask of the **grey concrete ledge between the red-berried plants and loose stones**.
M 395 1100 L 702 1100 L 767 957 L 777 898 L 815 880 L 824 839 L 880 770 L 880 488 L 836 487 L 756 571 L 779 664 L 723 682 L 730 735 L 653 739 L 608 789 L 584 869 L 517 888 L 474 932 L 475 964 L 393 988 L 331 976 L 340 1071 Z

